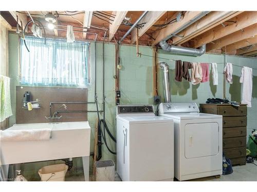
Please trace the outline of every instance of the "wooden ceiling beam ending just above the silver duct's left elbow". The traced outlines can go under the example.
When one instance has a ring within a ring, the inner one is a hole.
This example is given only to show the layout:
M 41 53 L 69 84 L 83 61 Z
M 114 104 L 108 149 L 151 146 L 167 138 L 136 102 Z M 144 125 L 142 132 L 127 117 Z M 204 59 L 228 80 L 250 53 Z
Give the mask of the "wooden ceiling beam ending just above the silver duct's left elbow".
M 162 40 L 169 39 L 172 34 L 177 34 L 196 20 L 200 19 L 201 17 L 205 16 L 208 12 L 204 11 L 187 11 L 183 16 L 182 20 L 179 22 L 175 22 L 173 24 L 167 25 L 166 28 L 163 28 L 159 31 L 154 33 L 155 40 L 152 42 L 152 46 L 155 46 Z

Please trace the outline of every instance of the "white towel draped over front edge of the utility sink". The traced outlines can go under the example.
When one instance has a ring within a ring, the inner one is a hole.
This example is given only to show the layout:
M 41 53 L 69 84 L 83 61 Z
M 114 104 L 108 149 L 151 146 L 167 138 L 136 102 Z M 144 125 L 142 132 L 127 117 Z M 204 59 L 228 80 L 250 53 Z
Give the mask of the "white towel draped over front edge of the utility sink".
M 50 139 L 51 129 L 4 130 L 0 131 L 1 141 L 42 141 Z

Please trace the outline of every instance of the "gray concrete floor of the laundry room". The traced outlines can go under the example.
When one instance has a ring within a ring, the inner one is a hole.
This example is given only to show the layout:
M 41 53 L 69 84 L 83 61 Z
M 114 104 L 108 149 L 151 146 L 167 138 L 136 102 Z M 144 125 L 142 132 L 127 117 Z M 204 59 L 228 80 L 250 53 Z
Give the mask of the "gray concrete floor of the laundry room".
M 257 161 L 254 161 L 257 164 Z M 84 175 L 69 176 L 65 178 L 66 181 L 84 181 Z M 94 176 L 89 176 L 90 181 L 94 181 Z M 115 174 L 115 181 L 121 181 L 118 174 Z M 230 175 L 221 175 L 221 177 L 205 177 L 199 179 L 192 179 L 190 181 L 257 181 L 257 166 L 252 163 L 246 165 L 233 166 L 233 173 Z

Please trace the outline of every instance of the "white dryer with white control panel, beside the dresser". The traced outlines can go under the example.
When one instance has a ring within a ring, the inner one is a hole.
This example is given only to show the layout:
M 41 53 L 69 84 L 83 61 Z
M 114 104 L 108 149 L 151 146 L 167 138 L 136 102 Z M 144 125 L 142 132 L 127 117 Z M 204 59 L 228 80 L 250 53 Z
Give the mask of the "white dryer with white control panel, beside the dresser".
M 174 177 L 179 181 L 222 174 L 222 116 L 199 113 L 196 103 L 160 103 L 174 121 Z

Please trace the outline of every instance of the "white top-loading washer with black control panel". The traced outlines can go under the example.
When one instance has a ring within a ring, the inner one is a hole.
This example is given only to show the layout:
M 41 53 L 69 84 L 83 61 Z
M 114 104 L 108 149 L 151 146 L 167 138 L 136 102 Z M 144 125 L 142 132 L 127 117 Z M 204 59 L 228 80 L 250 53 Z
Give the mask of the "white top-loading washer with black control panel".
M 117 105 L 117 173 L 122 181 L 173 181 L 173 120 L 153 105 Z

